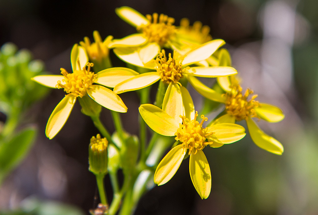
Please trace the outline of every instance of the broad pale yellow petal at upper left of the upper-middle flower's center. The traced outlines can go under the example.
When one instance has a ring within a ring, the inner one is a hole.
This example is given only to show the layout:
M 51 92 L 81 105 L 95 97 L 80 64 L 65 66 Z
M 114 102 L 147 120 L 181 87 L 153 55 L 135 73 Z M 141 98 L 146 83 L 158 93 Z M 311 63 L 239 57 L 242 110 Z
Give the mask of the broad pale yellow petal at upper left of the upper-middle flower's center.
M 114 49 L 114 53 L 118 58 L 123 61 L 150 69 L 154 69 L 156 66 L 155 61 L 152 62 L 160 47 L 154 43 L 151 43 L 145 47 L 117 47 Z

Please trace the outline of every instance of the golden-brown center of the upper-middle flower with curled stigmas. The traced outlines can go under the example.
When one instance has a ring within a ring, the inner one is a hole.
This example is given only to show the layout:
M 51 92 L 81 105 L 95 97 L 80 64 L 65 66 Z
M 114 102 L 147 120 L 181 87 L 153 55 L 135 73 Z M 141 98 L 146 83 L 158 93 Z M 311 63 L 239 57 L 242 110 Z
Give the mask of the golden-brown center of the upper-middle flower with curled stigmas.
M 190 69 L 189 66 L 182 68 L 182 61 L 183 58 L 179 58 L 176 51 L 173 52 L 173 58 L 169 53 L 167 60 L 166 52 L 162 50 L 156 58 L 157 73 L 160 75 L 160 79 L 167 84 L 179 83 L 178 81 L 183 78 L 182 73 Z

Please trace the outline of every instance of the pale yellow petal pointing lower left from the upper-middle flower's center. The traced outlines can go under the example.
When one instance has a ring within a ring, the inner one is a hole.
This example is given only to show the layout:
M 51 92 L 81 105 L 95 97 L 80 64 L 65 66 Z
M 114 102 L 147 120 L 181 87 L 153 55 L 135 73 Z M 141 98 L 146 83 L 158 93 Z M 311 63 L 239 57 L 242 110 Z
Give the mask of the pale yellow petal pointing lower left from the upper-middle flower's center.
M 157 72 L 142 73 L 116 85 L 114 87 L 114 92 L 116 94 L 120 94 L 132 90 L 139 90 L 144 87 L 148 87 L 149 85 L 152 85 L 159 79 L 160 75 L 158 75 Z

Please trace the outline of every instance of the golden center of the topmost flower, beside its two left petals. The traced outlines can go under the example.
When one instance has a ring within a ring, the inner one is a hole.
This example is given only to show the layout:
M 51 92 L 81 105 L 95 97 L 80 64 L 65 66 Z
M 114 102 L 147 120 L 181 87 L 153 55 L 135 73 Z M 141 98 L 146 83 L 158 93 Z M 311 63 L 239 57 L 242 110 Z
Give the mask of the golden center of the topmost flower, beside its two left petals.
M 149 24 L 141 26 L 139 29 L 149 39 L 149 42 L 155 42 L 163 47 L 170 36 L 175 33 L 176 27 L 173 25 L 175 19 L 164 14 L 158 16 L 157 13 L 152 16 L 147 14 L 146 17 L 149 20 Z

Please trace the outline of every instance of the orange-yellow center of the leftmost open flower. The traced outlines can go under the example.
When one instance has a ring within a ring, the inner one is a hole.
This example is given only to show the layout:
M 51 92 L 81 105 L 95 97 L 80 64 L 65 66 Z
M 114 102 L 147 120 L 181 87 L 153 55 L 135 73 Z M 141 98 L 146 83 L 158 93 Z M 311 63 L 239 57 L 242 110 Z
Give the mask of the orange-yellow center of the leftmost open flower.
M 77 64 L 79 66 L 79 59 L 77 60 Z M 56 87 L 59 89 L 64 88 L 66 93 L 82 98 L 86 94 L 86 90 L 93 85 L 97 77 L 96 74 L 89 71 L 90 67 L 93 66 L 93 63 L 87 63 L 86 66 L 87 70 L 83 67 L 82 70 L 75 70 L 73 73 L 68 73 L 65 69 L 61 68 L 61 74 L 64 76 L 63 82 L 65 82 L 65 84 L 58 81 Z

